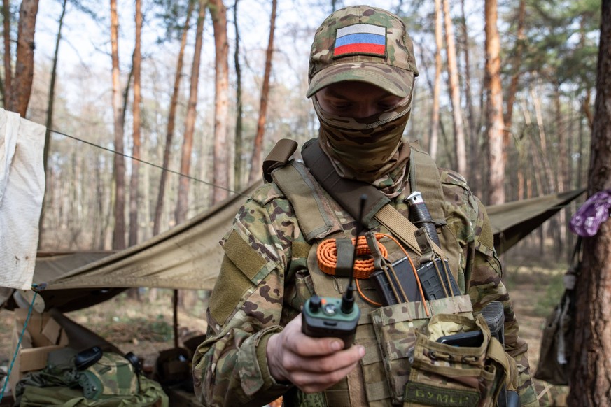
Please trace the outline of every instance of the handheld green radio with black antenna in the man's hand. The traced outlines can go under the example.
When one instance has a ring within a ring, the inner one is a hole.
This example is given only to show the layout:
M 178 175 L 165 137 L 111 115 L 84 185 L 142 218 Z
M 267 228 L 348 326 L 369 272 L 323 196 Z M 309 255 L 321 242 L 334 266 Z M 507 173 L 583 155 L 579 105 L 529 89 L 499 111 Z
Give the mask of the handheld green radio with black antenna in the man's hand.
M 363 208 L 365 208 L 367 195 L 360 197 L 360 210 L 356 226 L 356 241 L 363 231 Z M 356 243 L 352 253 L 352 272 L 346 292 L 341 299 L 334 297 L 318 297 L 308 299 L 302 310 L 302 332 L 314 338 L 335 337 L 344 341 L 344 349 L 350 348 L 354 341 L 354 334 L 360 310 L 354 304 L 354 262 L 356 262 Z

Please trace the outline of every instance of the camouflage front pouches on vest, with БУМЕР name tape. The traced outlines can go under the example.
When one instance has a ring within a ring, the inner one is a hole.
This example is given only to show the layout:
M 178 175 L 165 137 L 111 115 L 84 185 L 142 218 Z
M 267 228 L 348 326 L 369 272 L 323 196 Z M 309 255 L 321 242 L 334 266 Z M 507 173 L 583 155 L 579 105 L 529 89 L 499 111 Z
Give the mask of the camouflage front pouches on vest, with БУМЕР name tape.
M 433 316 L 426 315 L 424 305 Z M 372 322 L 393 404 L 494 405 L 510 358 L 491 338 L 484 317 L 474 318 L 468 296 L 377 308 Z M 471 331 L 482 332 L 477 346 L 437 342 Z

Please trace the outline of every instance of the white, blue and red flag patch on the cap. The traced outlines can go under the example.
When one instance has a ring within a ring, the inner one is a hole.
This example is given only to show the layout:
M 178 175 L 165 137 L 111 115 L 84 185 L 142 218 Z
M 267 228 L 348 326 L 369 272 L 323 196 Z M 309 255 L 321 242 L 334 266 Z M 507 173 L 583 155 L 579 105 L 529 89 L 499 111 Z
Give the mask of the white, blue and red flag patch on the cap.
M 333 56 L 350 54 L 386 55 L 386 27 L 354 24 L 337 29 Z

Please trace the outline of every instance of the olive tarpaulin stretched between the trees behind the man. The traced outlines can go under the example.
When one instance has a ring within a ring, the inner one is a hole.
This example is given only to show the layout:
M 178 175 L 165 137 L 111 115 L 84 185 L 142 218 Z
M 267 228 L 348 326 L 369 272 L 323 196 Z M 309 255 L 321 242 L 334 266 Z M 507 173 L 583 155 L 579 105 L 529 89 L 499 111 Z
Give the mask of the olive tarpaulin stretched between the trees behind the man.
M 245 196 L 258 185 L 260 181 L 184 224 L 94 262 L 90 252 L 41 257 L 34 283 L 47 283 L 41 292 L 47 307 L 59 306 L 64 312 L 97 304 L 127 287 L 211 290 L 223 257 L 218 241 L 230 229 Z M 496 250 L 511 248 L 582 192 L 487 206 Z

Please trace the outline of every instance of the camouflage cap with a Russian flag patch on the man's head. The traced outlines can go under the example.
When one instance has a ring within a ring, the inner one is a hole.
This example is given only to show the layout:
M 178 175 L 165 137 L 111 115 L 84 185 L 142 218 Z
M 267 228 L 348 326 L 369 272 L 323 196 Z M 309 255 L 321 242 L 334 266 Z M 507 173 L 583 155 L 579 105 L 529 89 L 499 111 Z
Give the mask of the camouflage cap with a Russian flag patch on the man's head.
M 357 80 L 406 97 L 418 76 L 402 20 L 381 8 L 350 6 L 323 21 L 310 51 L 307 97 L 332 83 Z

